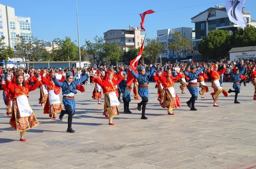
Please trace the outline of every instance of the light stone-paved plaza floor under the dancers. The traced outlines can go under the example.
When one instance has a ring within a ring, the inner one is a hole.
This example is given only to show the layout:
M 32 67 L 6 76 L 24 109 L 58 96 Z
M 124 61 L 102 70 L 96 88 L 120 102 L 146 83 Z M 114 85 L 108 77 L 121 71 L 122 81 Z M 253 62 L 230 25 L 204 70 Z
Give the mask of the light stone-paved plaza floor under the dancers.
M 94 85 L 87 85 L 86 92 L 75 94 L 75 133 L 66 132 L 66 115 L 61 121 L 43 114 L 37 89 L 30 92 L 29 102 L 40 125 L 26 132 L 27 142 L 19 141 L 19 133 L 10 126 L 11 116 L 6 116 L 1 98 L 0 168 L 256 168 L 253 85 L 241 86 L 241 104 L 234 104 L 234 93 L 227 98 L 221 94 L 216 108 L 211 83 L 206 84 L 210 91 L 204 99 L 198 97 L 198 111 L 190 111 L 186 101 L 191 95 L 187 89 L 181 94 L 180 84 L 175 83 L 182 107 L 171 116 L 160 107 L 155 83 L 150 83 L 149 119 L 140 119 L 136 107 L 141 100 L 132 99 L 133 113 L 122 114 L 121 102 L 114 126 L 102 116 L 104 99 L 98 105 L 91 98 Z M 223 88 L 228 90 L 232 85 L 223 83 Z

